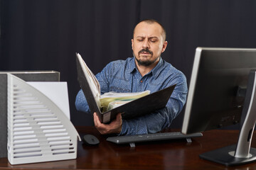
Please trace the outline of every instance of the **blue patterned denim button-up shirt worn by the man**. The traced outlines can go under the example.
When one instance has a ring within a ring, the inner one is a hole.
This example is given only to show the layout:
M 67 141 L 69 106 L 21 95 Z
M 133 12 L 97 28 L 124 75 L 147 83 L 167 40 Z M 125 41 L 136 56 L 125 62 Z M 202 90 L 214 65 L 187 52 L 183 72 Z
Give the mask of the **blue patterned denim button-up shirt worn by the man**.
M 144 77 L 137 70 L 134 57 L 129 57 L 127 60 L 110 62 L 96 78 L 100 83 L 101 94 L 109 91 L 124 93 L 146 90 L 153 93 L 176 84 L 165 108 L 131 120 L 122 120 L 122 131 L 119 135 L 159 132 L 171 125 L 186 103 L 188 88 L 185 75 L 161 58 L 156 67 Z M 78 92 L 75 106 L 78 111 L 90 113 L 82 90 Z

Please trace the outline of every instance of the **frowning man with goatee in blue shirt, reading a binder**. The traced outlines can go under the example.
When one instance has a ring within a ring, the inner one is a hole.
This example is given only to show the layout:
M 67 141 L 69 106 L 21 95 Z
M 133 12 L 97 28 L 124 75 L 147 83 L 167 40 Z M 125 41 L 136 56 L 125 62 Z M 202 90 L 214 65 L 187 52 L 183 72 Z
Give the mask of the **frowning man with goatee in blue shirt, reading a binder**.
M 166 31 L 155 20 L 144 20 L 134 28 L 132 50 L 134 57 L 110 62 L 96 75 L 101 93 L 108 91 L 138 92 L 159 91 L 176 84 L 165 108 L 131 120 L 122 120 L 122 115 L 110 124 L 100 123 L 94 113 L 95 127 L 101 134 L 139 135 L 159 132 L 171 125 L 181 112 L 187 95 L 186 77 L 171 64 L 161 59 L 166 50 Z M 78 92 L 75 106 L 78 111 L 90 112 L 82 90 Z

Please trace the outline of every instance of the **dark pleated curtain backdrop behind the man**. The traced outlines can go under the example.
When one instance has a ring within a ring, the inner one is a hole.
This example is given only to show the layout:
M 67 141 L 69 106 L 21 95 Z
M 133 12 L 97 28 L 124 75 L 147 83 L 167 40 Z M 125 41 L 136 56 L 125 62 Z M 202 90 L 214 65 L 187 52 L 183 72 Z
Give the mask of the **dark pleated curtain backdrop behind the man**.
M 188 84 L 196 47 L 256 47 L 254 0 L 1 0 L 0 8 L 0 70 L 60 72 L 74 125 L 92 125 L 91 115 L 75 110 L 75 52 L 95 74 L 112 60 L 132 57 L 132 31 L 144 18 L 166 27 L 162 57 L 186 74 Z M 174 128 L 181 128 L 182 118 Z

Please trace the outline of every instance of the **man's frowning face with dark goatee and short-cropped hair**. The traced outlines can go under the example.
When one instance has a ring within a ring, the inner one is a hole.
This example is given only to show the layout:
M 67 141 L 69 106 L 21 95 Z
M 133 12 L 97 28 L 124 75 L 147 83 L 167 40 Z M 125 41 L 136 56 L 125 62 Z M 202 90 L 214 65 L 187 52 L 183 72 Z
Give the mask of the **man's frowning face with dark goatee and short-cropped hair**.
M 132 50 L 137 64 L 149 66 L 159 62 L 162 52 L 166 49 L 162 28 L 158 23 L 139 23 L 134 29 Z

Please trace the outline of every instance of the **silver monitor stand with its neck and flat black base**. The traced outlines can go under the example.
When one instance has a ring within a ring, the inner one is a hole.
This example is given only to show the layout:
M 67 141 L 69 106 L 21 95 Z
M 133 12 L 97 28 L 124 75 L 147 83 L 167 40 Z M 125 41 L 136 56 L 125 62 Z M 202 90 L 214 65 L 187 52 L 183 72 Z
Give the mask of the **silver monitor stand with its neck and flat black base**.
M 242 115 L 246 114 L 246 117 L 240 129 L 237 145 L 231 145 L 203 153 L 199 155 L 202 159 L 218 164 L 224 164 L 226 166 L 236 166 L 256 162 L 256 149 L 250 147 L 256 122 L 255 72 L 255 70 L 252 70 L 249 74 L 245 104 L 242 110 Z

